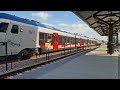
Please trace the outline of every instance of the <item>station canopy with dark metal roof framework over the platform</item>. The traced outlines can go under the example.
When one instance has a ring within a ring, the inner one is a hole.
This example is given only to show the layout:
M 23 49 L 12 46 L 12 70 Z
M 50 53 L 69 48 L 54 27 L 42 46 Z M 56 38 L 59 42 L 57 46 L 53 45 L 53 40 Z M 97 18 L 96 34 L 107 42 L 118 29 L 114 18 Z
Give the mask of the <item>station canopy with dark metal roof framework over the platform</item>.
M 109 35 L 109 25 L 113 25 L 113 35 L 120 26 L 120 11 L 73 11 L 101 36 Z

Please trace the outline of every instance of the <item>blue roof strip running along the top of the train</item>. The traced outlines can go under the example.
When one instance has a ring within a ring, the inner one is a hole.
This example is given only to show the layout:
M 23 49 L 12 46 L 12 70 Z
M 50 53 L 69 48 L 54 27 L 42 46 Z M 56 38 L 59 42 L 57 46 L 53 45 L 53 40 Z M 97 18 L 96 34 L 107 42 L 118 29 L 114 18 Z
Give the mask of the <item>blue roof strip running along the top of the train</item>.
M 14 20 L 14 21 L 18 21 L 18 22 L 22 22 L 22 23 L 26 23 L 26 24 L 30 24 L 30 25 L 34 25 L 34 26 L 38 26 L 38 27 L 43 27 L 43 28 L 47 28 L 47 29 L 51 29 L 51 30 L 56 30 L 56 31 L 60 31 L 60 32 L 64 32 L 64 33 L 68 33 L 68 34 L 74 35 L 73 33 L 62 31 L 60 29 L 56 29 L 56 28 L 54 28 L 52 26 L 45 25 L 45 24 L 42 24 L 42 23 L 34 21 L 34 20 L 20 18 L 20 17 L 17 17 L 15 15 L 10 15 L 10 14 L 7 14 L 7 13 L 0 13 L 0 18 L 10 19 L 10 20 Z

